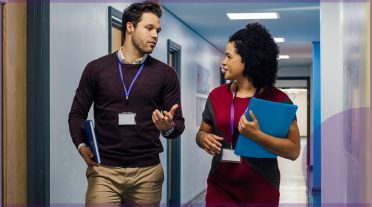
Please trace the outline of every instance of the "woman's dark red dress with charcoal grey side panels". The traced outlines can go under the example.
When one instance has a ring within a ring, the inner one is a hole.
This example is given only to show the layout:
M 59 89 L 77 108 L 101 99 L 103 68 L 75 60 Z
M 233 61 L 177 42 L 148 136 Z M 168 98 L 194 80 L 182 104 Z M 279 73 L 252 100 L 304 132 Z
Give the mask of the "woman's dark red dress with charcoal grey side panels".
M 234 134 L 230 132 L 232 93 L 229 84 L 215 88 L 208 97 L 203 121 L 224 137 L 223 148 L 236 144 L 238 123 L 250 98 L 236 97 L 234 101 Z M 292 103 L 288 96 L 275 87 L 266 88 L 257 98 Z M 280 172 L 276 158 L 242 158 L 241 163 L 220 162 L 213 157 L 208 176 L 207 206 L 278 206 Z

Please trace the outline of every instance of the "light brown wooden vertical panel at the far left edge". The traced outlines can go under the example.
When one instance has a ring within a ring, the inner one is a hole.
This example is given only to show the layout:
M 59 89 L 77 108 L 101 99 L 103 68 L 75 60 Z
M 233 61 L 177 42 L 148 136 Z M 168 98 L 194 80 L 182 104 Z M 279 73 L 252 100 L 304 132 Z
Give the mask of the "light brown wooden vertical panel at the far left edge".
M 3 201 L 27 202 L 26 3 L 3 11 Z

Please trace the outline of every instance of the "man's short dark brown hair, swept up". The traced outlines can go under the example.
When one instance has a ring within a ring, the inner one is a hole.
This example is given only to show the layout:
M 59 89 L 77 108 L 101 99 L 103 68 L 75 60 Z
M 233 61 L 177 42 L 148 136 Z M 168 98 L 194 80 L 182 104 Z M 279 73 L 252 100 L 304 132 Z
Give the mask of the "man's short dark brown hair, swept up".
M 134 27 L 137 26 L 138 22 L 141 21 L 142 14 L 146 12 L 151 12 L 155 14 L 157 17 L 161 18 L 163 14 L 161 10 L 161 6 L 156 1 L 144 1 L 142 3 L 133 3 L 124 9 L 123 17 L 122 17 L 122 35 L 123 39 L 125 39 L 125 32 L 127 31 L 127 23 L 132 22 Z

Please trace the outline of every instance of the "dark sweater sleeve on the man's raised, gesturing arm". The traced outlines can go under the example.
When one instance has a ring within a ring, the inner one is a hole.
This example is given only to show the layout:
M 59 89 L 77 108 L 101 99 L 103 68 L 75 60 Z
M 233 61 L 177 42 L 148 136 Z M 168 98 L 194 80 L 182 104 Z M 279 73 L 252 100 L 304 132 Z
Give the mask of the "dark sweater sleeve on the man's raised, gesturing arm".
M 179 107 L 173 116 L 174 131 L 168 136 L 165 136 L 165 138 L 174 139 L 180 136 L 184 131 L 185 119 L 182 116 L 180 82 L 177 73 L 171 69 L 167 76 L 162 94 L 162 108 L 169 111 L 175 104 L 178 104 Z

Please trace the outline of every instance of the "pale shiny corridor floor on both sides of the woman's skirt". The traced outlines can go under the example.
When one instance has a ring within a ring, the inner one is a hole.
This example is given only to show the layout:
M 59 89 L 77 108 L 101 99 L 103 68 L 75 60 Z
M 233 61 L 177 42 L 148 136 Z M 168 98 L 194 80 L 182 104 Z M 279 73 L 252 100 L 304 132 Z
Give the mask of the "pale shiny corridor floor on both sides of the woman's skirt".
M 301 138 L 301 153 L 295 161 L 278 158 L 281 173 L 280 207 L 306 206 L 306 138 Z M 205 191 L 184 206 L 205 206 Z

